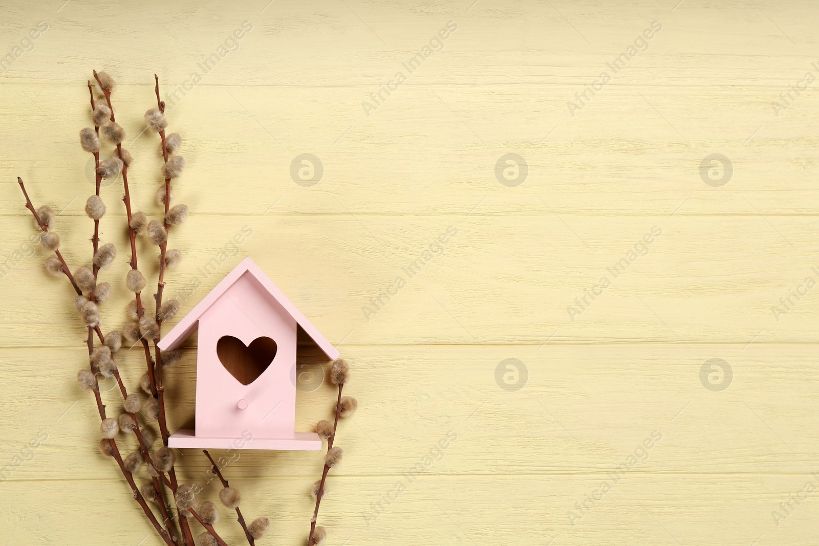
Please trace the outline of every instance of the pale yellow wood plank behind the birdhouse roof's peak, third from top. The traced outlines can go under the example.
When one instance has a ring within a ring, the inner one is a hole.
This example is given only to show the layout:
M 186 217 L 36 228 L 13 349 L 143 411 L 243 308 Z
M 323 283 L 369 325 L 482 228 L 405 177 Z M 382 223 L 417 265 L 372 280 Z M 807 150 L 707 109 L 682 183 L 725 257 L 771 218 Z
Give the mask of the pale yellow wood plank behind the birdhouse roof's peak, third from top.
M 122 205 L 112 193 L 119 191 L 106 191 L 115 211 Z M 189 187 L 179 194 L 180 201 L 197 199 Z M 30 223 L 13 219 L 14 232 L 0 236 L 7 256 L 25 245 Z M 120 251 L 101 276 L 115 286 L 103 309 L 106 327 L 121 327 L 128 302 L 120 282 L 129 255 L 123 223 L 113 213 L 102 222 L 102 237 Z M 76 256 L 90 254 L 90 228 L 79 216 L 59 220 L 74 268 L 88 263 Z M 448 242 L 439 242 L 441 234 Z M 553 334 L 553 341 L 580 343 L 667 341 L 681 350 L 708 342 L 812 342 L 819 300 L 805 281 L 819 279 L 812 270 L 819 268 L 811 250 L 816 234 L 814 217 L 193 216 L 171 233 L 171 247 L 185 257 L 168 275 L 166 294 L 179 291 L 185 312 L 251 255 L 335 343 L 541 345 Z M 141 239 L 139 251 L 140 267 L 156 279 L 156 250 Z M 65 279 L 45 273 L 43 256 L 20 259 L 0 283 L 8 304 L 0 310 L 4 345 L 65 345 L 62 336 L 84 335 L 73 292 Z M 600 288 L 603 278 L 611 286 Z M 790 296 L 797 289 L 806 293 L 799 300 Z M 55 327 L 63 324 L 70 327 Z

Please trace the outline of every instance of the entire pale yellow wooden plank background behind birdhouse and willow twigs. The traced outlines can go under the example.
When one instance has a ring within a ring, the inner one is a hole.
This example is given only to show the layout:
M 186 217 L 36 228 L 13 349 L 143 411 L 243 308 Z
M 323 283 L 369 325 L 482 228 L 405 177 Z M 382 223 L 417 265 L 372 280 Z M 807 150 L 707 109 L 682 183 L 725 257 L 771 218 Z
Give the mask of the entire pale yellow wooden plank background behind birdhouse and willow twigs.
M 327 544 L 817 544 L 819 289 L 804 282 L 819 280 L 819 83 L 806 79 L 819 77 L 819 8 L 472 1 L 3 4 L 2 544 L 161 544 L 97 453 L 93 399 L 75 381 L 84 329 L 70 287 L 28 244 L 16 185 L 62 211 L 66 259 L 87 264 L 93 185 L 78 132 L 94 68 L 120 83 L 133 200 L 149 214 L 158 139 L 138 135 L 153 74 L 165 93 L 182 89 L 168 119 L 188 160 L 176 202 L 192 215 L 171 234 L 184 257 L 166 295 L 201 283 L 187 312 L 251 255 L 352 363 L 360 410 L 339 432 Z M 15 56 L 39 21 L 48 30 Z M 201 70 L 243 21 L 238 48 Z M 409 74 L 402 63 L 448 21 L 443 50 Z M 613 74 L 607 63 L 653 21 L 648 49 Z M 406 81 L 368 116 L 362 103 L 399 70 Z M 603 70 L 611 81 L 572 115 L 567 102 Z M 303 153 L 324 167 L 310 187 L 290 174 Z M 495 173 L 508 153 L 528 167 L 518 186 Z M 715 153 L 730 179 L 701 169 Z M 101 276 L 115 284 L 108 329 L 125 319 L 129 252 L 121 185 L 102 196 L 102 237 L 120 250 Z M 654 226 L 647 253 L 572 320 L 568 306 Z M 438 250 L 447 228 L 457 234 Z M 156 248 L 139 251 L 150 287 Z M 365 316 L 399 276 L 405 286 Z M 192 417 L 194 352 L 167 375 L 172 429 Z M 118 358 L 131 388 L 138 353 Z M 715 358 L 731 379 L 701 377 Z M 300 391 L 299 426 L 328 417 L 332 393 Z M 653 431 L 662 440 L 634 463 Z M 438 453 L 448 433 L 457 440 Z M 259 544 L 302 544 L 320 458 L 244 452 L 225 468 L 247 517 L 271 519 Z M 201 453 L 181 459 L 182 479 L 204 485 Z M 621 464 L 633 468 L 586 501 Z M 216 492 L 211 482 L 203 496 Z M 792 494 L 802 500 L 785 511 Z M 226 511 L 217 530 L 241 544 Z

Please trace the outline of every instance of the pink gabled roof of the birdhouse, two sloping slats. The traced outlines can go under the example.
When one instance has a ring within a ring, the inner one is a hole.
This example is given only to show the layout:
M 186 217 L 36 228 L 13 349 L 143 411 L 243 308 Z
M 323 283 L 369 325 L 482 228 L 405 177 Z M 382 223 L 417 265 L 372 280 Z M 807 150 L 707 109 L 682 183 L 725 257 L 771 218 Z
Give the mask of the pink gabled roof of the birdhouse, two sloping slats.
M 233 284 L 242 278 L 242 276 L 246 273 L 251 274 L 254 278 L 256 278 L 256 280 L 262 287 L 265 288 L 269 295 L 273 296 L 273 298 L 278 301 L 280 305 L 282 305 L 287 313 L 296 320 L 296 324 L 301 326 L 301 329 L 304 330 L 308 336 L 310 336 L 316 345 L 319 345 L 319 349 L 324 351 L 324 354 L 328 356 L 328 359 L 335 360 L 339 357 L 339 352 L 335 347 L 333 347 L 333 344 L 330 343 L 326 337 L 322 336 L 321 332 L 319 332 L 319 330 L 314 327 L 309 320 L 307 320 L 305 315 L 301 313 L 298 308 L 296 308 L 296 305 L 293 305 L 292 301 L 284 295 L 284 292 L 281 291 L 249 257 L 242 259 L 242 262 L 233 268 L 233 271 L 231 271 L 227 277 L 222 279 L 222 281 L 219 282 L 219 284 L 217 284 L 207 296 L 202 298 L 197 306 L 191 309 L 190 313 L 185 315 L 185 317 L 180 320 L 176 326 L 171 328 L 170 332 L 168 332 L 167 335 L 165 335 L 165 337 L 163 337 L 157 344 L 159 348 L 161 350 L 174 350 L 179 347 L 179 345 L 182 345 L 183 341 L 187 340 L 197 328 L 201 315 L 204 314 L 211 305 L 215 304 L 216 300 L 218 300 L 220 296 L 229 291 L 230 287 L 233 287 Z

